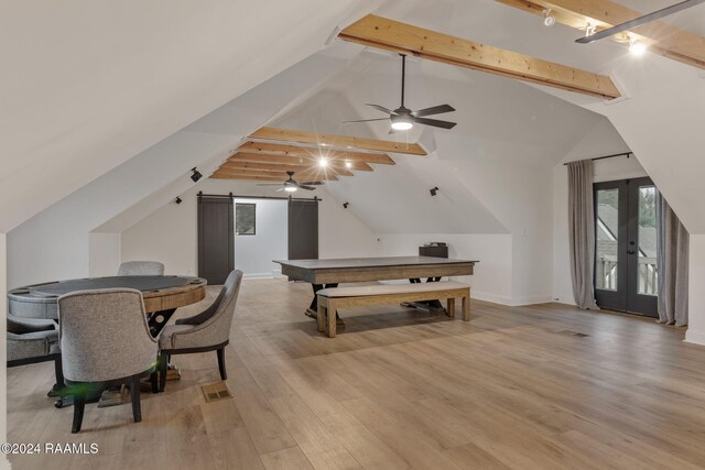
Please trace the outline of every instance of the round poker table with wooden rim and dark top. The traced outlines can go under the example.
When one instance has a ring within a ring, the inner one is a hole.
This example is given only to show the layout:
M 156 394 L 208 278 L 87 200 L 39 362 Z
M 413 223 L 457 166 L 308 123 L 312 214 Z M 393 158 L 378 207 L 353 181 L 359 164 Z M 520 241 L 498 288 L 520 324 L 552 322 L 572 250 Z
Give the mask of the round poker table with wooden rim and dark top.
M 58 297 L 76 291 L 134 288 L 142 293 L 150 331 L 156 337 L 176 308 L 206 297 L 206 280 L 191 276 L 86 277 L 28 285 L 8 293 L 10 314 L 18 317 L 57 319 Z

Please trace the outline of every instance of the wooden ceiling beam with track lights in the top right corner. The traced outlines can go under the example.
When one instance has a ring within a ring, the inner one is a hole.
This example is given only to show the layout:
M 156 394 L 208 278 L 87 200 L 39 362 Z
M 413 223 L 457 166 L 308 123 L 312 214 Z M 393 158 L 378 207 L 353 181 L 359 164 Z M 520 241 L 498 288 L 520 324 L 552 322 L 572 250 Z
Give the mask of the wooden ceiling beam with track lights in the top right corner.
M 538 15 L 543 15 L 543 10 L 550 8 L 556 22 L 582 31 L 585 31 L 588 22 L 596 26 L 596 32 L 599 32 L 642 15 L 639 11 L 610 0 L 496 1 Z M 664 21 L 652 21 L 636 28 L 628 34 L 620 33 L 612 39 L 627 43 L 629 36 L 648 44 L 649 51 L 654 54 L 705 68 L 705 37 L 691 31 L 681 30 Z

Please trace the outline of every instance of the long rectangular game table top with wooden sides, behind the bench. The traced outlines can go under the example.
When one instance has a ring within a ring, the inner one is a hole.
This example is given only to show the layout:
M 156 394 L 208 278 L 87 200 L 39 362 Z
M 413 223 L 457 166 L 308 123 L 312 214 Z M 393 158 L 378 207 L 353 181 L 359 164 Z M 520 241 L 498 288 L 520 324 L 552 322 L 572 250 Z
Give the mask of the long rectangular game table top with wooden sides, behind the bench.
M 477 261 L 434 256 L 381 256 L 329 260 L 274 260 L 282 274 L 312 284 L 464 276 Z

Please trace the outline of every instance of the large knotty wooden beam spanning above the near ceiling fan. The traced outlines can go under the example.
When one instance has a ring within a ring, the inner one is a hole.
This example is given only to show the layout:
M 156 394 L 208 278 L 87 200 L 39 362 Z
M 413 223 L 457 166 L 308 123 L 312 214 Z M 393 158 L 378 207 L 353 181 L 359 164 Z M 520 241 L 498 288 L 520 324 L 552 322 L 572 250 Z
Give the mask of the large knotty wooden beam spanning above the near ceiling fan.
M 430 61 L 512 77 L 601 98 L 619 90 L 604 75 L 581 70 L 512 51 L 369 14 L 343 30 L 339 37 L 371 47 L 412 54 Z

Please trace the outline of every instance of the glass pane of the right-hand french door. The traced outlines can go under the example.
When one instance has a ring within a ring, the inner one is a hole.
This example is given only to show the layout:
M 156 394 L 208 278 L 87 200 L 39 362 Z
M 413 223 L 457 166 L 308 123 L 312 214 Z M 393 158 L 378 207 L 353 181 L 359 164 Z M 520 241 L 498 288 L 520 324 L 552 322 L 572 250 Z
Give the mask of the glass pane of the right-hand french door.
M 639 187 L 639 275 L 637 292 L 658 294 L 657 266 L 657 190 L 654 186 Z

